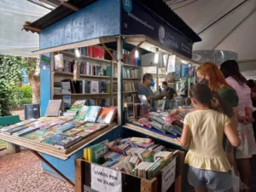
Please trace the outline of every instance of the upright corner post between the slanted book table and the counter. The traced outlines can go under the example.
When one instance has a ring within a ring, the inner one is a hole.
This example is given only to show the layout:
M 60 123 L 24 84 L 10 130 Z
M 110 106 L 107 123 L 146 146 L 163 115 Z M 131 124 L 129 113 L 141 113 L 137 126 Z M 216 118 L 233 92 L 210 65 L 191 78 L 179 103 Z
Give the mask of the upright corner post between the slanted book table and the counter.
M 117 54 L 118 54 L 118 124 L 122 125 L 123 116 L 123 39 L 121 36 L 117 40 Z

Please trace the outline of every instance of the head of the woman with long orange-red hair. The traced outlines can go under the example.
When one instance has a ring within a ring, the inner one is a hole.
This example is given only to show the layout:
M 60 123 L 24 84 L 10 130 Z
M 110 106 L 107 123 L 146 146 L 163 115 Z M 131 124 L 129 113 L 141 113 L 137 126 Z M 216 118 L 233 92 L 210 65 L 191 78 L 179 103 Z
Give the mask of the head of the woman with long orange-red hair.
M 218 91 L 223 86 L 230 87 L 218 67 L 212 62 L 202 64 L 201 67 L 197 69 L 197 73 L 203 77 L 199 83 L 201 83 L 203 80 L 207 81 L 207 84 L 211 90 Z

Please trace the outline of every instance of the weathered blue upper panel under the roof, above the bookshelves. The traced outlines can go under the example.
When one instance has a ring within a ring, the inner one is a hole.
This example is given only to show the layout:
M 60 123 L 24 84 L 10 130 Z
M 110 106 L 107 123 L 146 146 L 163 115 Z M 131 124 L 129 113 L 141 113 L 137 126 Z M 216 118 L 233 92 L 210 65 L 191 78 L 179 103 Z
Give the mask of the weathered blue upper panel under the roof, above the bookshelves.
M 40 32 L 40 49 L 120 34 L 119 0 L 99 0 Z

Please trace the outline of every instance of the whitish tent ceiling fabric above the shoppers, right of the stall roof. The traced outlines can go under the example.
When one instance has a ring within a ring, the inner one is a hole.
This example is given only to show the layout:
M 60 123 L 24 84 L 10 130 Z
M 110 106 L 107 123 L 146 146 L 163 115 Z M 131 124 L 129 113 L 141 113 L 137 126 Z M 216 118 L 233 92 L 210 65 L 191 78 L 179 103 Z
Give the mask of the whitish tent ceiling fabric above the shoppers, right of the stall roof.
M 173 1 L 173 0 L 172 0 Z M 213 21 L 235 8 L 244 0 L 185 0 L 171 6 L 195 32 L 201 32 Z M 171 2 L 171 1 L 169 1 Z M 194 3 L 192 3 L 194 2 Z M 168 3 L 168 0 L 167 0 Z M 186 5 L 183 8 L 179 8 Z M 179 9 L 177 9 L 179 8 Z M 234 51 L 239 60 L 256 58 L 256 0 L 244 3 L 240 8 L 202 32 L 202 41 L 194 45 L 199 49 Z

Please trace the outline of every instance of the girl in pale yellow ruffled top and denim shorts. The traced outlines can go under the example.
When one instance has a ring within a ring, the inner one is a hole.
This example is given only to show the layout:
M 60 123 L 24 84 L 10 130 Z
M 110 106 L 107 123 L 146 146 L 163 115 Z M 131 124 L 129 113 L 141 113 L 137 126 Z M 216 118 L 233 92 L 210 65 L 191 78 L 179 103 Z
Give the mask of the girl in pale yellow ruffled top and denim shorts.
M 184 148 L 189 148 L 185 159 L 189 164 L 189 183 L 195 191 L 229 190 L 231 166 L 224 153 L 224 134 L 233 146 L 241 143 L 229 118 L 233 112 L 206 84 L 195 84 L 190 93 L 196 110 L 185 116 L 179 139 Z

